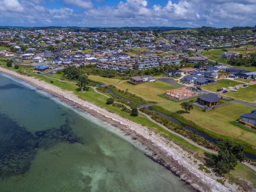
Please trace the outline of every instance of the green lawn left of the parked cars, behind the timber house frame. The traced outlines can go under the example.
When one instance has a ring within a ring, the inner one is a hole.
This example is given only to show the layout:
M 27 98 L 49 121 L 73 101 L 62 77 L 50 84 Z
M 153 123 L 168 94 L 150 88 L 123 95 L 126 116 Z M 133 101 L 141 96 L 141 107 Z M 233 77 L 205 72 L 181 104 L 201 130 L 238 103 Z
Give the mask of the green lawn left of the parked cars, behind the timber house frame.
M 210 84 L 210 85 L 203 85 L 202 89 L 217 92 L 217 89 L 221 89 L 223 87 L 225 87 L 225 88 L 234 87 L 238 84 L 244 84 L 244 83 L 240 83 L 240 82 L 237 82 L 237 81 L 232 81 L 232 80 L 229 80 L 229 79 L 221 79 L 220 81 L 218 81 L 218 83 Z

